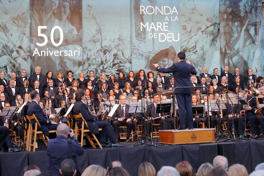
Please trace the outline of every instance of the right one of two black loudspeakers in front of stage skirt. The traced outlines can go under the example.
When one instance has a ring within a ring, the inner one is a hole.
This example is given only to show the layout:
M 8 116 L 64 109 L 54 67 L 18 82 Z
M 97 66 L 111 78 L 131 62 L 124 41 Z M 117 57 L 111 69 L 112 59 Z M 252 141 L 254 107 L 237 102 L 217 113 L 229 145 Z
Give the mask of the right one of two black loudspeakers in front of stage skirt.
M 235 142 L 218 143 L 218 155 L 227 157 L 228 167 L 237 163 L 235 159 Z

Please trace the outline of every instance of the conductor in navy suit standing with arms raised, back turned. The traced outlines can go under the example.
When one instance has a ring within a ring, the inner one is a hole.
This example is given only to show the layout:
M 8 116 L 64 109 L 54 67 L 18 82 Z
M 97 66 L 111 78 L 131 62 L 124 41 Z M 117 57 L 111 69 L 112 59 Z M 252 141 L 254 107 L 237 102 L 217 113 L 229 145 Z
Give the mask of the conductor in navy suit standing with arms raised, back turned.
M 185 60 L 185 53 L 178 53 L 178 63 L 174 63 L 169 68 L 160 68 L 158 64 L 153 64 L 156 70 L 161 73 L 173 73 L 174 87 L 190 87 L 191 74 L 196 75 L 195 68 L 190 61 Z M 192 105 L 191 105 L 192 89 L 175 89 L 176 99 L 179 106 L 180 127 L 177 130 L 185 130 L 186 124 L 189 129 L 193 129 Z

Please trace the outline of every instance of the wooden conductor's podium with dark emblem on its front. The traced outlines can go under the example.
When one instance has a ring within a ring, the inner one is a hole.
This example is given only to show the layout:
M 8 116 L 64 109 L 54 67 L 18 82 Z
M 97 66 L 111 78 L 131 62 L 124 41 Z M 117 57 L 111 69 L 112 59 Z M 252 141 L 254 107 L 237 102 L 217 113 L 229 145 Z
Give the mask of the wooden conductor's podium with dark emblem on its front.
M 159 130 L 161 144 L 196 144 L 215 142 L 214 128 L 193 130 Z

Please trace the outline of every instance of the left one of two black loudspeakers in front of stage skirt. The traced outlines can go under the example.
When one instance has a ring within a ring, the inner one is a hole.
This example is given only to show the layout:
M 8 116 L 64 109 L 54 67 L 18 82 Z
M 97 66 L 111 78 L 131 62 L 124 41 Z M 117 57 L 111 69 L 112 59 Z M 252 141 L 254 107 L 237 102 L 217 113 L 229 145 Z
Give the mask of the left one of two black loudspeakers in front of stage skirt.
M 217 144 L 200 144 L 201 164 L 211 163 L 213 165 L 215 156 L 217 156 Z

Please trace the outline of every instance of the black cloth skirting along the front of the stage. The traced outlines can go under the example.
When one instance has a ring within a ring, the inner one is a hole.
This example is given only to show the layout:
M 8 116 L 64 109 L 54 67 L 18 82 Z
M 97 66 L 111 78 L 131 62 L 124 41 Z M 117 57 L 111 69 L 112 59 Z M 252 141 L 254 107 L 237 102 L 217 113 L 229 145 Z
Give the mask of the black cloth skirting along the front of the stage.
M 158 141 L 155 142 L 155 144 Z M 185 144 L 167 146 L 136 146 L 131 148 L 136 142 L 123 142 L 124 148 L 92 149 L 84 148 L 84 154 L 77 158 L 79 170 L 82 172 L 91 164 L 99 164 L 107 168 L 111 161 L 120 160 L 124 168 L 131 175 L 138 175 L 140 163 L 148 161 L 153 164 L 156 171 L 163 165 L 175 165 L 180 161 L 188 161 L 196 172 L 201 165 L 200 145 L 205 144 Z M 211 143 L 209 143 L 211 144 Z M 218 144 L 230 144 L 230 142 L 220 142 Z M 264 162 L 264 140 L 236 141 L 235 163 L 244 165 L 251 173 L 257 164 Z M 219 148 L 219 147 L 218 147 Z M 1 175 L 22 175 L 23 168 L 29 164 L 35 164 L 41 170 L 48 169 L 48 156 L 46 151 L 19 153 L 0 153 Z M 234 163 L 229 163 L 234 164 Z

